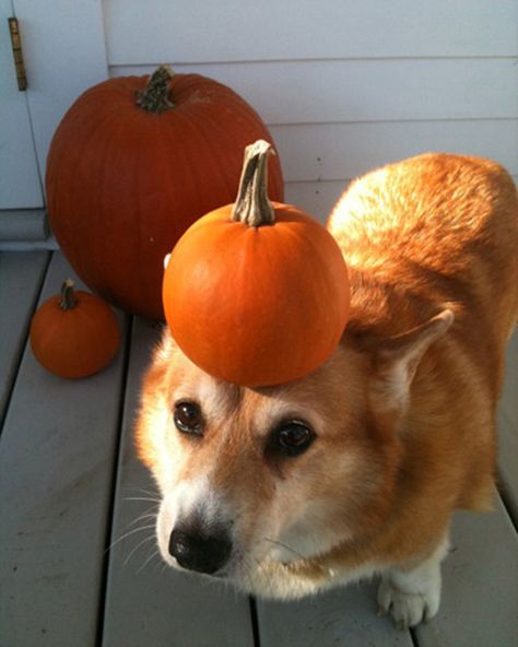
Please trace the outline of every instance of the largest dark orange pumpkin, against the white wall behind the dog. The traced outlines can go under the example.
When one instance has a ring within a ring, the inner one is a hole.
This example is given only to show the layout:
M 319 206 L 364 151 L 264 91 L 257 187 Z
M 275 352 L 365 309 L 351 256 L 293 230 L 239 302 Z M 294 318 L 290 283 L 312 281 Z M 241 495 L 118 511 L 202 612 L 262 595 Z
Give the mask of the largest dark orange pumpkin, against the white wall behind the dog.
M 163 258 L 237 190 L 243 149 L 272 141 L 235 92 L 198 74 L 110 79 L 59 125 L 47 160 L 48 213 L 64 256 L 94 291 L 162 318 Z M 271 192 L 282 199 L 279 160 Z

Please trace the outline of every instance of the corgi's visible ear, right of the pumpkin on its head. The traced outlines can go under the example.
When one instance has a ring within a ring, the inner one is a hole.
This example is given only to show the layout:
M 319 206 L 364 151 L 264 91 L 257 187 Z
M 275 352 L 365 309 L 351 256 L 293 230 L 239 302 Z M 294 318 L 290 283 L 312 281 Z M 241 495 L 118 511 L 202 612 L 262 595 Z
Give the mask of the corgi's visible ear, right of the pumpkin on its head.
M 445 309 L 417 328 L 375 343 L 370 400 L 379 412 L 404 413 L 410 386 L 426 350 L 448 330 L 454 313 Z

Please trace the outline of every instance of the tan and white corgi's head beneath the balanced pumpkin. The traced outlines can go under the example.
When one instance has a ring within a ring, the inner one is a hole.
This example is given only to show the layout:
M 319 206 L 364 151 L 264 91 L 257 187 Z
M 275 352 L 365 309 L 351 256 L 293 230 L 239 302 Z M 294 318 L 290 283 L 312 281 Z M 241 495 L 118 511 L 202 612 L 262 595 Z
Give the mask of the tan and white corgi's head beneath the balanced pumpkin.
M 163 558 L 246 587 L 376 531 L 391 502 L 398 427 L 446 311 L 374 348 L 345 338 L 297 381 L 243 388 L 195 366 L 165 331 L 142 391 L 137 443 L 158 484 Z

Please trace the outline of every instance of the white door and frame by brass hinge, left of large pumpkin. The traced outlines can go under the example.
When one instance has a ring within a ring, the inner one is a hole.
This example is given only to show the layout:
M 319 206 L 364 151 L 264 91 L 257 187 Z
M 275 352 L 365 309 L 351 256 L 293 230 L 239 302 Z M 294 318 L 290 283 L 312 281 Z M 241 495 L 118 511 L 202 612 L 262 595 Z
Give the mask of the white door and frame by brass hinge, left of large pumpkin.
M 87 87 L 108 78 L 108 66 L 102 0 L 0 2 L 5 49 L 1 54 L 8 61 L 0 79 L 5 110 L 1 121 L 7 129 L 0 151 L 0 239 L 20 240 L 45 231 L 45 167 L 61 117 Z M 17 90 L 8 51 L 9 15 L 19 21 L 27 77 L 24 92 Z

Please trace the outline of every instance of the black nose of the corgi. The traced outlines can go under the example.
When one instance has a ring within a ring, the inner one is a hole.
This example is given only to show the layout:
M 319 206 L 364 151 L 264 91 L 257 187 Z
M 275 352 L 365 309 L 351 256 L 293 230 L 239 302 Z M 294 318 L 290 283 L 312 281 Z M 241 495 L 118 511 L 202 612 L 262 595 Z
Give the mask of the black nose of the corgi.
M 169 537 L 169 554 L 189 570 L 215 573 L 228 562 L 231 552 L 232 541 L 224 531 L 202 534 L 178 527 Z

